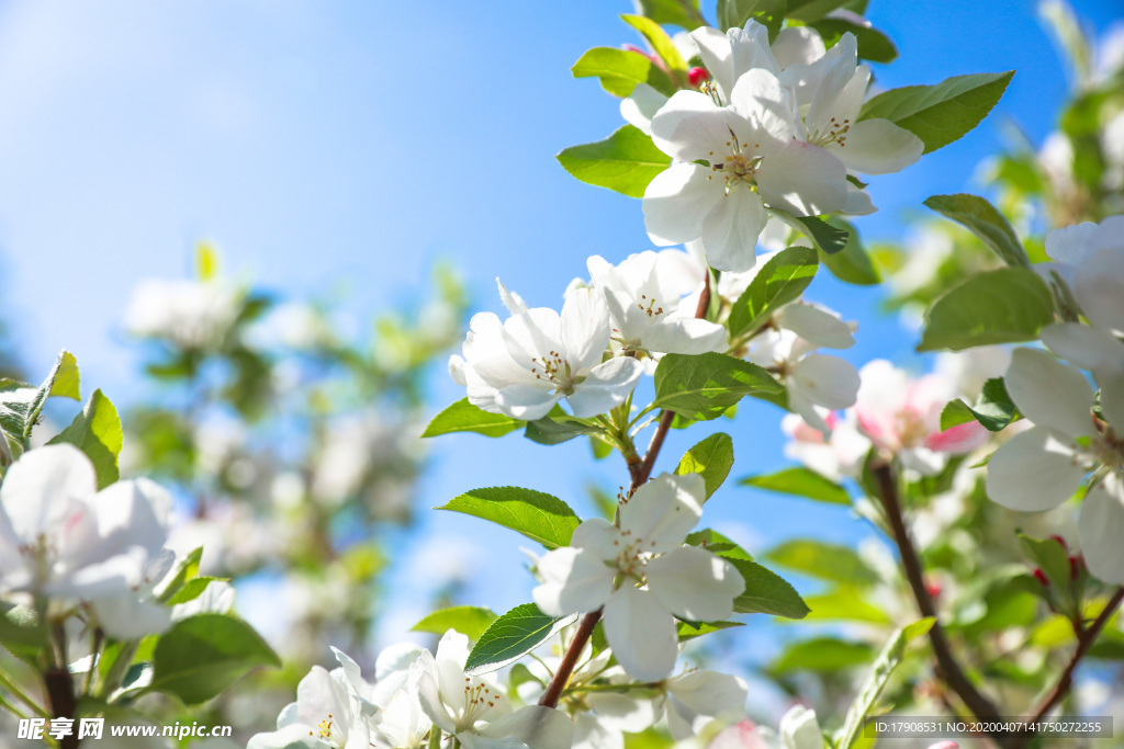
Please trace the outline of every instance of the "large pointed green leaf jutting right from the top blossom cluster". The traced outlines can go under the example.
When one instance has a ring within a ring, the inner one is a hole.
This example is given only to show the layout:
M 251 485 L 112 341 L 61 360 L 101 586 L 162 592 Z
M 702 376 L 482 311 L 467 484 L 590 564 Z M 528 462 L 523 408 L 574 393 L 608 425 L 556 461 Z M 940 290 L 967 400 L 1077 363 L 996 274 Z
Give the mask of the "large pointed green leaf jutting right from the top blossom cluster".
M 860 120 L 887 119 L 922 139 L 925 152 L 959 140 L 1003 97 L 1015 71 L 955 75 L 935 85 L 883 91 L 862 107 Z

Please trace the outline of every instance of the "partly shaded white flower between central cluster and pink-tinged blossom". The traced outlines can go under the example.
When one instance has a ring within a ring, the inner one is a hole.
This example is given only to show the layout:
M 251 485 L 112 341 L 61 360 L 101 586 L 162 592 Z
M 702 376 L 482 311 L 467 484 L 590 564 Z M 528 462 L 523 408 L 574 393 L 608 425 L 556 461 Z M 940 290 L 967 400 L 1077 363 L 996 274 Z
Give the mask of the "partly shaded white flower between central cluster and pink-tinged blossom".
M 835 313 L 806 304 L 786 304 L 773 314 L 774 329 L 753 339 L 747 358 L 772 367 L 788 389 L 788 405 L 815 429 L 830 431 L 819 409 L 854 405 L 859 373 L 835 356 L 816 354 L 818 347 L 850 348 L 856 325 Z

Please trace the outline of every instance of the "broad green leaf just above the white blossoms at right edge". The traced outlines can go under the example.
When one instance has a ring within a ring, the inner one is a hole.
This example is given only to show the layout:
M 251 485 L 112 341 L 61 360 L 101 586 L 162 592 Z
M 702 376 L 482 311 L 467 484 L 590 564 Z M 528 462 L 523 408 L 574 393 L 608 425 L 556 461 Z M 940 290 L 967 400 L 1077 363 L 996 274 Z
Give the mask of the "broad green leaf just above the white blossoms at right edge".
M 1030 268 L 1000 268 L 968 278 L 925 313 L 918 351 L 959 351 L 1035 340 L 1053 321 L 1053 296 Z

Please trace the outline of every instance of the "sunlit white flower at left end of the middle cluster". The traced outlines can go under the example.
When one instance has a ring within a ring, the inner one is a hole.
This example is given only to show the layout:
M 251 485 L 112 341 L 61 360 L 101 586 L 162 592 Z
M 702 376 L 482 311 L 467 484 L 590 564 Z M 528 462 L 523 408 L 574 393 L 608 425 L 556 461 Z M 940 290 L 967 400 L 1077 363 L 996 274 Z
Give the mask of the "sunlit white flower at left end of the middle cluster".
M 511 317 L 500 322 L 491 312 L 473 316 L 464 358 L 450 362 L 454 380 L 468 386 L 469 402 L 527 421 L 546 415 L 562 399 L 579 418 L 624 403 L 643 367 L 632 357 L 601 362 L 610 329 L 599 291 L 574 290 L 561 316 L 526 309 L 517 296 L 506 301 Z

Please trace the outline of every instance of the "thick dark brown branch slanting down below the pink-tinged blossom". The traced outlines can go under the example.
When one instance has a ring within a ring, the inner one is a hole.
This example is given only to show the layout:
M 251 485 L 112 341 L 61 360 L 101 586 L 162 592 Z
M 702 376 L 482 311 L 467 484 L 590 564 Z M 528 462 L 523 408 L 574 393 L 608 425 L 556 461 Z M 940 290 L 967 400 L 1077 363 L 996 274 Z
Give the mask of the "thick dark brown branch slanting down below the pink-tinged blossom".
M 928 590 L 925 587 L 921 558 L 917 556 L 917 549 L 914 548 L 913 540 L 909 538 L 909 531 L 906 530 L 905 520 L 903 520 L 901 503 L 898 500 L 898 484 L 894 468 L 888 463 L 879 463 L 871 466 L 871 472 L 874 475 L 874 481 L 878 483 L 878 494 L 882 501 L 882 506 L 886 509 L 886 517 L 894 533 L 894 541 L 897 544 L 898 552 L 901 556 L 901 566 L 905 567 L 906 579 L 909 582 L 914 599 L 917 601 L 917 608 L 921 610 L 922 616 L 932 616 L 934 620 L 933 628 L 928 631 L 928 639 L 933 643 L 933 656 L 936 658 L 936 668 L 934 669 L 936 670 L 936 675 L 948 684 L 949 688 L 960 696 L 964 705 L 972 711 L 972 714 L 977 719 L 981 721 L 997 720 L 999 718 L 999 710 L 969 681 L 968 676 L 960 668 L 960 664 L 957 663 L 955 657 L 952 655 L 952 648 L 949 647 L 949 640 L 944 636 L 944 628 L 941 627 L 941 622 L 936 615 L 936 605 L 933 603 L 933 596 L 928 594 Z M 1000 745 L 1003 743 L 1003 737 L 992 736 L 992 738 Z

